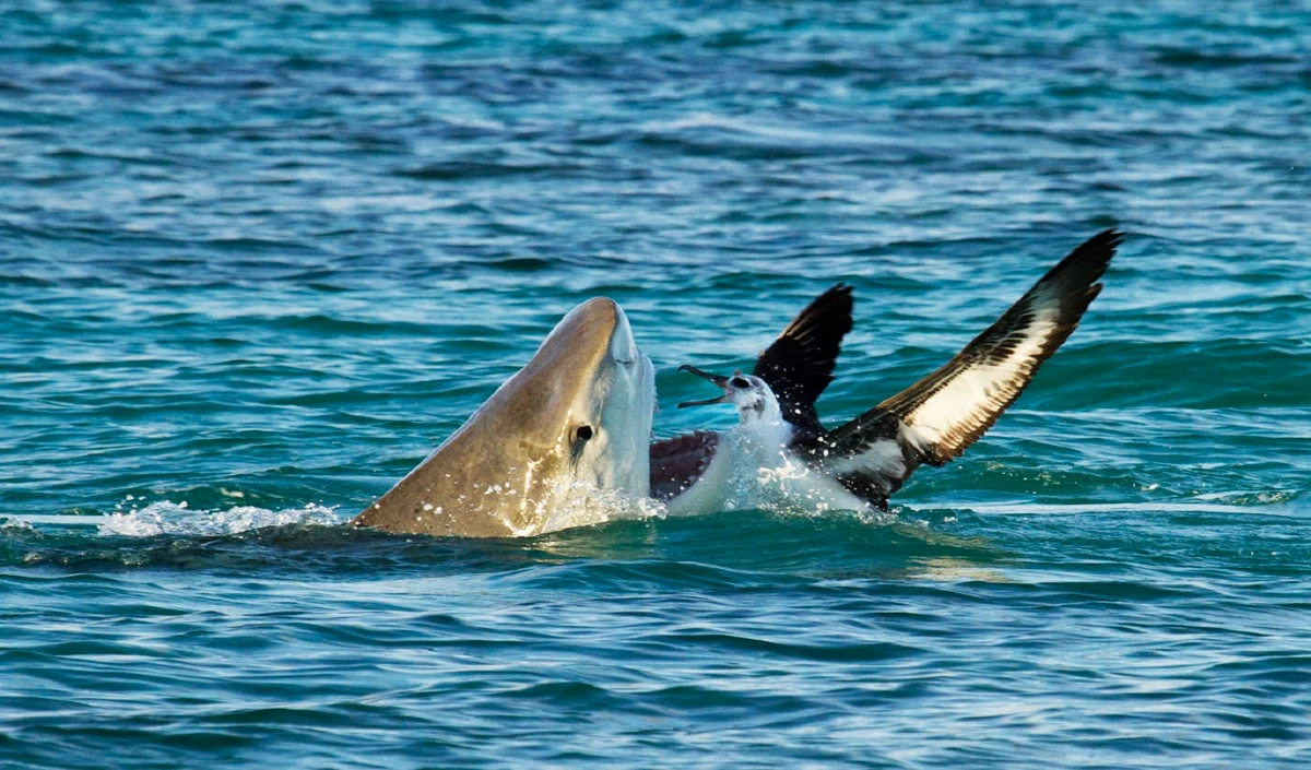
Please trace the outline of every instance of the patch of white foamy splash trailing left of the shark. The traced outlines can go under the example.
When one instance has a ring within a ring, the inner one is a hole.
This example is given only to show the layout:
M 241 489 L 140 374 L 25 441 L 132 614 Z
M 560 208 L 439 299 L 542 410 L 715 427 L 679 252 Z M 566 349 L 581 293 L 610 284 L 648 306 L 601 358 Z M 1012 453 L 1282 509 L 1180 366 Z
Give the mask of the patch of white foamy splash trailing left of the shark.
M 186 502 L 161 500 L 126 513 L 110 513 L 97 526 L 102 536 L 153 537 L 157 534 L 239 534 L 267 526 L 319 524 L 332 526 L 346 517 L 337 507 L 307 504 L 303 508 L 270 511 L 254 505 L 236 505 L 225 511 L 191 509 Z

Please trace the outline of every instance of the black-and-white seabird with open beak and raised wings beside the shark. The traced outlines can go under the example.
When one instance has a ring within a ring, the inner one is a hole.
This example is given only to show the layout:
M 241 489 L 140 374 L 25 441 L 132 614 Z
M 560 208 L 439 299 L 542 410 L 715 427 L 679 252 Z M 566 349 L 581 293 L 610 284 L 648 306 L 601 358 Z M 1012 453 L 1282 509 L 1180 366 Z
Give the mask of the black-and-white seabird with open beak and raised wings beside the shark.
M 960 457 L 1015 403 L 1079 325 L 1122 240 L 1114 229 L 1093 236 L 947 364 L 834 430 L 823 427 L 814 405 L 852 326 L 850 285 L 836 284 L 810 302 L 750 375 L 679 367 L 724 390 L 679 409 L 732 403 L 738 424 L 654 441 L 652 496 L 673 513 L 779 502 L 886 511 L 889 495 L 916 468 Z

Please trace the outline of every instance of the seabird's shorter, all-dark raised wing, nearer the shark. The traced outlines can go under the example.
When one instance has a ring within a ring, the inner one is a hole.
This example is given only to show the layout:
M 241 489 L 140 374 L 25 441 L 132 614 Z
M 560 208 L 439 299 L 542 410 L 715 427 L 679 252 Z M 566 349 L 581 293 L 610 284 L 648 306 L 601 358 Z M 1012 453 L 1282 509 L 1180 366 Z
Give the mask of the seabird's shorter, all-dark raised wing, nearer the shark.
M 836 284 L 806 305 L 755 360 L 753 373 L 779 399 L 783 419 L 818 435 L 815 399 L 832 382 L 842 338 L 851 331 L 851 287 Z

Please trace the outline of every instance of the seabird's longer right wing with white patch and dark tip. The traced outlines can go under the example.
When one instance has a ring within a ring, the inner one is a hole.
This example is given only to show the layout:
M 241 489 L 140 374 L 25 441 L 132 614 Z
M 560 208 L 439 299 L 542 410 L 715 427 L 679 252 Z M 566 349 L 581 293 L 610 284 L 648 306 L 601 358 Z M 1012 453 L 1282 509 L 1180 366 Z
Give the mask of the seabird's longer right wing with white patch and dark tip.
M 1086 241 L 945 365 L 823 436 L 819 460 L 848 490 L 886 505 L 922 462 L 960 457 L 1079 325 L 1122 240 L 1110 229 Z

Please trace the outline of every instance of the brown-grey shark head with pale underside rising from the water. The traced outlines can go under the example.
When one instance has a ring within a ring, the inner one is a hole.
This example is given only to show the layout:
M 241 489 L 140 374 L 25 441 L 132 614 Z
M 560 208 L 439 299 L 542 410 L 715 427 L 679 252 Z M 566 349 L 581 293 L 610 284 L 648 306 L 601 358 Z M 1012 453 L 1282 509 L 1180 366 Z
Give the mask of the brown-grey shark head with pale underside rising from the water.
M 438 536 L 531 536 L 555 528 L 561 508 L 582 496 L 645 498 L 654 405 L 654 371 L 628 317 L 614 300 L 589 300 L 355 524 Z

